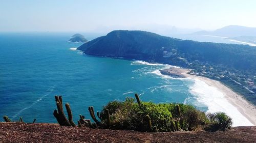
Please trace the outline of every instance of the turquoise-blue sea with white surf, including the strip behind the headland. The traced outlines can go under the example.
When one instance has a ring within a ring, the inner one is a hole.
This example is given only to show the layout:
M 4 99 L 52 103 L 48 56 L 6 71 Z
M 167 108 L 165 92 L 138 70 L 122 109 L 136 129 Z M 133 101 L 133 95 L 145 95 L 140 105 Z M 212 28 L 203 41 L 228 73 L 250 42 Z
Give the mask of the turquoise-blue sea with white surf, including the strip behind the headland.
M 0 116 L 12 121 L 57 123 L 54 96 L 69 103 L 74 121 L 90 119 L 110 101 L 140 95 L 142 101 L 180 102 L 205 112 L 225 111 L 233 126 L 252 125 L 224 94 L 205 82 L 172 78 L 159 70 L 172 65 L 91 56 L 68 42 L 71 33 L 0 33 Z M 95 35 L 86 35 L 89 40 Z M 175 38 L 237 43 L 221 37 L 172 35 Z M 0 121 L 3 121 L 0 120 Z

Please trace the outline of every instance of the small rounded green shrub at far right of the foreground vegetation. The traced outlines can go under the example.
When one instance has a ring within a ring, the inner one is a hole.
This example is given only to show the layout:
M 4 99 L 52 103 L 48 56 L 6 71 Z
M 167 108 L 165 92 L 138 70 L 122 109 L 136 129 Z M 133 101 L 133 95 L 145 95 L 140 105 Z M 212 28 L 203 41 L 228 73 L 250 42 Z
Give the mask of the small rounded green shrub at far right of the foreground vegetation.
M 207 130 L 227 130 L 232 127 L 232 119 L 224 112 L 207 113 L 207 118 L 210 121 L 210 125 L 206 128 Z

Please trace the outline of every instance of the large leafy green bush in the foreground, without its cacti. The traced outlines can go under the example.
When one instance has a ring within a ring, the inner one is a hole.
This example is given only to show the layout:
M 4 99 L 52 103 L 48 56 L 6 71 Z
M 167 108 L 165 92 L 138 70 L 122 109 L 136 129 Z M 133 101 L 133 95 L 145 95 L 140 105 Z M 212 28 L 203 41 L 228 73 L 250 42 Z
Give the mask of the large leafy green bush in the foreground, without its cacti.
M 181 117 L 177 115 L 176 105 L 180 106 Z M 195 129 L 206 116 L 204 112 L 191 105 L 177 103 L 153 103 L 141 102 L 139 105 L 134 98 L 126 98 L 125 101 L 112 101 L 103 107 L 100 116 L 103 126 L 106 127 L 106 109 L 109 109 L 111 117 L 111 129 L 132 129 L 149 131 L 147 115 L 150 117 L 154 131 L 169 131 L 175 121 L 176 130 Z M 167 125 L 167 126 L 166 126 Z M 178 127 L 178 129 L 177 129 Z

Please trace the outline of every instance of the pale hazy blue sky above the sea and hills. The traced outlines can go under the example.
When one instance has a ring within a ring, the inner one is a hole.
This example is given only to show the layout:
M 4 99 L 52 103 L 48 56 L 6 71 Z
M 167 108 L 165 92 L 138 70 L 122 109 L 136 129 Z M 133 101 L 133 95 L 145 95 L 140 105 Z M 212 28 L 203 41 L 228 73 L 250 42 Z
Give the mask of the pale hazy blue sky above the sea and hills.
M 256 27 L 256 1 L 0 0 L 0 32 L 99 32 L 154 25 L 214 30 L 231 24 Z

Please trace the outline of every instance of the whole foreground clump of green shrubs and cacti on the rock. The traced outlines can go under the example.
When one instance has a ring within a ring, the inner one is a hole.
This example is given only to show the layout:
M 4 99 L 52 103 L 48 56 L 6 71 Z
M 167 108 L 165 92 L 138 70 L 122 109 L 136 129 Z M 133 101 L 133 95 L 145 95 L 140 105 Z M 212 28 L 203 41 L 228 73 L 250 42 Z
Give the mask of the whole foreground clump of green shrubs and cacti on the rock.
M 206 130 L 230 129 L 232 120 L 224 112 L 207 113 L 194 106 L 181 103 L 142 102 L 137 94 L 124 101 L 111 101 L 95 114 L 93 106 L 89 106 L 91 118 L 79 115 L 78 127 L 102 129 L 128 129 L 144 132 L 191 131 L 204 128 Z M 57 110 L 54 117 L 61 126 L 76 127 L 70 105 L 66 103 L 68 118 L 63 111 L 62 97 L 55 96 Z M 97 116 L 95 116 L 97 115 Z

